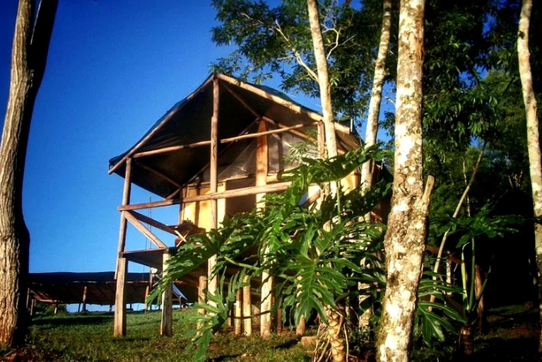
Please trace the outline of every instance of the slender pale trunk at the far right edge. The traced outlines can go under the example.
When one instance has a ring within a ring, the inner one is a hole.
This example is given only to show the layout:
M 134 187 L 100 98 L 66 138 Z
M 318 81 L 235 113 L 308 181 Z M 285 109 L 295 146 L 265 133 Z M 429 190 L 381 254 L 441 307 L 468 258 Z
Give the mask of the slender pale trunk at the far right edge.
M 529 172 L 531 173 L 531 189 L 533 192 L 534 216 L 542 216 L 542 166 L 540 153 L 540 137 L 538 135 L 538 115 L 536 98 L 533 90 L 531 75 L 531 57 L 529 52 L 529 22 L 531 21 L 532 0 L 523 0 L 522 12 L 519 17 L 519 31 L 517 35 L 517 56 L 519 60 L 519 77 L 522 80 L 523 101 L 527 119 L 527 147 L 529 148 Z M 542 273 L 542 225 L 534 224 L 534 240 L 536 247 L 536 264 L 538 267 L 538 281 Z M 542 300 L 542 284 L 538 283 L 538 297 Z M 542 305 L 541 305 L 542 306 Z M 540 309 L 542 322 L 542 308 Z M 542 333 L 538 341 L 538 352 L 542 353 Z

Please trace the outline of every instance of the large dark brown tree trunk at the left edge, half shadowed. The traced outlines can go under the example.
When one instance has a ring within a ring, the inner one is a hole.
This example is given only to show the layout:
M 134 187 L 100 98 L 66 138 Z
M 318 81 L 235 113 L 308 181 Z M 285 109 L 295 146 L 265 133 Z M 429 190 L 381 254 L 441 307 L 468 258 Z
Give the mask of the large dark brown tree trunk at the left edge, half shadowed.
M 0 148 L 0 344 L 23 344 L 30 235 L 23 218 L 23 174 L 30 121 L 45 72 L 57 0 L 20 0 L 11 84 Z M 35 15 L 36 14 L 36 15 Z

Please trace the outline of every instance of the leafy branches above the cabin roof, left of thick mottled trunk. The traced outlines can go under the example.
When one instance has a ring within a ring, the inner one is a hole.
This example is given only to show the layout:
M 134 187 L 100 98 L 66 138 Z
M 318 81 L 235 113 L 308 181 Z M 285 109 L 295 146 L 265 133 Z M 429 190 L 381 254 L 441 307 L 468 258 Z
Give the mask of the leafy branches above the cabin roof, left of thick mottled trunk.
M 325 0 L 319 5 L 334 110 L 359 120 L 367 109 L 372 88 L 382 1 L 344 6 Z M 255 83 L 279 76 L 285 91 L 319 97 L 317 82 L 306 69 L 316 69 L 306 1 L 282 1 L 272 7 L 261 0 L 214 0 L 213 6 L 219 21 L 213 28 L 213 41 L 217 45 L 235 45 L 228 57 L 218 60 L 214 70 Z M 396 18 L 397 1 L 393 10 Z M 396 26 L 396 21 L 391 23 Z M 392 36 L 395 33 L 392 31 Z M 388 55 L 391 76 L 395 48 L 392 42 Z

